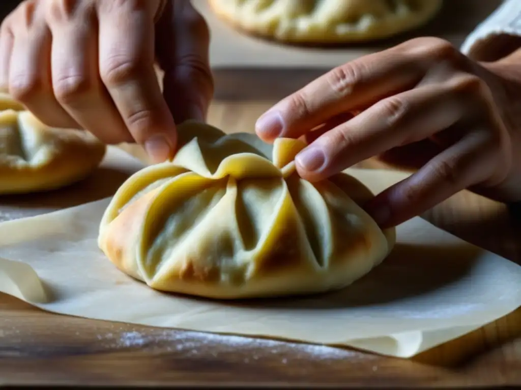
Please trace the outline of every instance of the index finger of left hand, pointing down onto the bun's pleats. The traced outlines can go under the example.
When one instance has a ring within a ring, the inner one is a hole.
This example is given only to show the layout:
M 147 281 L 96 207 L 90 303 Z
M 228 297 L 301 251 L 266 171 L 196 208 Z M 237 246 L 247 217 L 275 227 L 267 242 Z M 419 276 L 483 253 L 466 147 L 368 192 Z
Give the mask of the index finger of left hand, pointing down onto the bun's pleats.
M 132 137 L 162 162 L 175 151 L 176 128 L 154 69 L 153 2 L 134 3 L 100 10 L 100 73 Z

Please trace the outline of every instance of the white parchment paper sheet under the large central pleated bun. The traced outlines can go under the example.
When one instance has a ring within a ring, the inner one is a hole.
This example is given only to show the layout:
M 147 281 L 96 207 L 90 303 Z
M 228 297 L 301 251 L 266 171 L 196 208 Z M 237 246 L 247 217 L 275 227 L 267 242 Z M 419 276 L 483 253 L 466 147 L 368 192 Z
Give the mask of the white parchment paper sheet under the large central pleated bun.
M 139 165 L 120 150 L 108 153 L 107 161 L 118 166 Z M 406 176 L 350 173 L 376 192 Z M 98 250 L 98 224 L 108 202 L 1 223 L 0 291 L 85 318 L 347 345 L 400 357 L 521 305 L 520 266 L 420 218 L 399 226 L 393 253 L 341 292 L 235 303 L 163 294 L 122 274 Z

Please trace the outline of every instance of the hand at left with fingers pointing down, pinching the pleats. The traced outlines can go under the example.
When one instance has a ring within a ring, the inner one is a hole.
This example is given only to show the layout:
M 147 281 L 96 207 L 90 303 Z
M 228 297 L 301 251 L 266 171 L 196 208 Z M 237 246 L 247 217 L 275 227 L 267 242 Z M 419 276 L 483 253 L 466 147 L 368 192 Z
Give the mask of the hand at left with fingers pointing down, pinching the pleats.
M 175 122 L 206 115 L 208 43 L 188 0 L 26 0 L 0 28 L 0 88 L 49 126 L 135 141 L 164 161 Z

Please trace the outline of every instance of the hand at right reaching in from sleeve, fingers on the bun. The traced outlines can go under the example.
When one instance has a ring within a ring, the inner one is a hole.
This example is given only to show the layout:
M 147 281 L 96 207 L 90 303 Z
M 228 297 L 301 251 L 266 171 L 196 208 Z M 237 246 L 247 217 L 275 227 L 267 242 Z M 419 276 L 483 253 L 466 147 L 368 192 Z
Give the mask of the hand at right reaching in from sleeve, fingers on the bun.
M 319 77 L 267 111 L 256 131 L 266 141 L 304 136 L 297 172 L 310 181 L 375 155 L 413 163 L 416 173 L 365 205 L 382 227 L 464 188 L 519 201 L 515 68 L 519 61 L 479 64 L 438 38 L 417 38 Z

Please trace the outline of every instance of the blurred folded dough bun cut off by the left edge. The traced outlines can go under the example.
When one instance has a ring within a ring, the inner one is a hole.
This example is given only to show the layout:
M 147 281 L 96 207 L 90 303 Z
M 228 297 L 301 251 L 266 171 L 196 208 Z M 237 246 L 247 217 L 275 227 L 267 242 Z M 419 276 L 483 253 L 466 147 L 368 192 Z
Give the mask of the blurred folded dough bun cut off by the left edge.
M 57 189 L 88 176 L 106 147 L 81 130 L 45 126 L 0 94 L 0 194 Z

